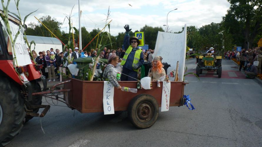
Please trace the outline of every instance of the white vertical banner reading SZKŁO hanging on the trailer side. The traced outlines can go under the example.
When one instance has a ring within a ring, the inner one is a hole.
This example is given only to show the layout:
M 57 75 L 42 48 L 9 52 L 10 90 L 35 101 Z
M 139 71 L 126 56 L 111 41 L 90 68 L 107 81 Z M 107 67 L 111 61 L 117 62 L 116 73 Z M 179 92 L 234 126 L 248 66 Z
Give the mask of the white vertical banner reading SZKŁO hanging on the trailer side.
M 109 81 L 104 81 L 103 91 L 104 114 L 115 114 L 114 109 L 114 85 Z

